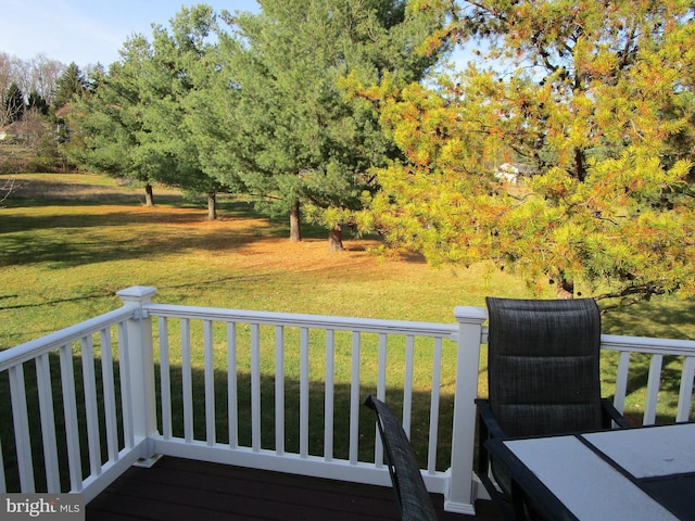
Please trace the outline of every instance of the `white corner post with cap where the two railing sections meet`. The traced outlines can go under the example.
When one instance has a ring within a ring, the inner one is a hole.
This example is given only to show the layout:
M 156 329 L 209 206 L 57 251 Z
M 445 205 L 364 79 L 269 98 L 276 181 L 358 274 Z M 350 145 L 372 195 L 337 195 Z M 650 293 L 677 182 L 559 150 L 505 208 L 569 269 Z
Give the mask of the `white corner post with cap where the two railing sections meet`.
M 154 391 L 154 360 L 152 347 L 152 320 L 142 306 L 152 302 L 156 288 L 135 285 L 118 291 L 116 295 L 124 307 L 135 307 L 126 323 L 127 371 L 130 404 L 132 408 L 132 435 L 136 443 L 150 440 L 156 433 L 156 402 Z M 123 364 L 124 360 L 121 360 Z M 126 414 L 126 411 L 124 411 Z M 140 458 L 153 456 L 152 443 L 142 444 Z

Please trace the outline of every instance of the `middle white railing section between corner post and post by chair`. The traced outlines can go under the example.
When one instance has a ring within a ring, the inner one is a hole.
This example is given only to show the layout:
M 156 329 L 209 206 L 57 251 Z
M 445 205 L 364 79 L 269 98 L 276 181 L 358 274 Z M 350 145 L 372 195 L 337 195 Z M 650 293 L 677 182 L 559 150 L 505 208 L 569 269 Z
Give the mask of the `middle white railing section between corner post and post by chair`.
M 440 383 L 444 354 L 450 367 L 455 366 L 452 359 L 468 351 L 458 345 L 469 339 L 475 356 L 467 369 L 470 377 L 464 378 L 473 383 L 467 390 L 472 404 L 485 318 L 480 310 L 473 320 L 476 334 L 462 336 L 463 326 L 453 323 L 160 304 L 148 304 L 142 309 L 152 321 L 156 338 L 152 352 L 159 368 L 153 374 L 155 383 L 150 385 L 159 390 L 161 397 L 155 412 L 157 429 L 151 436 L 155 453 L 387 485 L 389 474 L 382 466 L 372 412 L 361 404 L 367 394 L 381 399 L 390 395 L 402 404 L 403 427 L 408 434 L 415 414 L 417 424 L 425 425 L 420 437 L 427 446 L 422 460 L 428 487 L 444 494 L 451 509 L 472 513 L 472 452 L 466 449 L 469 443 L 463 434 L 467 430 L 468 437 L 475 436 L 475 410 L 453 407 L 453 417 L 447 415 L 446 424 L 440 408 L 444 399 L 452 402 L 453 397 L 441 392 Z M 180 367 L 172 367 L 173 350 Z M 193 359 L 199 363 L 193 364 Z M 299 360 L 299 367 L 289 369 L 288 360 Z M 464 372 L 467 363 L 463 358 L 460 367 Z M 342 377 L 337 378 L 338 374 Z M 264 380 L 268 379 L 271 399 L 264 391 L 268 389 Z M 270 402 L 269 406 L 264 401 Z M 415 401 L 419 404 L 417 410 Z M 175 407 L 181 411 L 179 422 L 174 422 Z M 321 418 L 320 424 L 311 421 L 316 417 Z M 339 420 L 341 417 L 344 421 Z M 464 425 L 459 428 L 462 442 L 454 442 L 456 446 L 452 446 L 453 423 Z M 441 457 L 437 441 L 442 428 L 448 436 L 447 459 L 446 466 L 438 469 Z M 268 429 L 271 432 L 265 436 Z M 338 454 L 337 440 L 345 445 L 343 454 Z M 454 460 L 451 454 L 455 450 L 460 454 Z M 452 475 L 459 463 L 467 470 L 460 472 L 464 480 L 456 483 Z M 463 500 L 454 500 L 457 493 Z

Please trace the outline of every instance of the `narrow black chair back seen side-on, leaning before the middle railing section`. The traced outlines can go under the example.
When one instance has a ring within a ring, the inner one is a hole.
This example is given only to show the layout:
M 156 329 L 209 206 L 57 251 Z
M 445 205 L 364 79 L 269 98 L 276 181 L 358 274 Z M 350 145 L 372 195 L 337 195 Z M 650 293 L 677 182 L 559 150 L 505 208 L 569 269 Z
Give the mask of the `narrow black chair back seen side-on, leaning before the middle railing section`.
M 415 459 L 401 422 L 383 402 L 367 396 L 365 405 L 375 411 L 379 435 L 383 444 L 395 500 L 401 519 L 407 521 L 435 521 L 432 498 L 427 492 L 422 474 Z

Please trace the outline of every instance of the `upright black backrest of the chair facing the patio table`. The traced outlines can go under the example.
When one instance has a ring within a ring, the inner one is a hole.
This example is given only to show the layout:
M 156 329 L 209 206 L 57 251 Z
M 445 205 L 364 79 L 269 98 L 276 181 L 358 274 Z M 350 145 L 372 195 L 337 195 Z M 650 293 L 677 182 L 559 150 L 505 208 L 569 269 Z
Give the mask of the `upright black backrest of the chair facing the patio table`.
M 593 298 L 488 297 L 490 407 L 507 436 L 601 429 Z

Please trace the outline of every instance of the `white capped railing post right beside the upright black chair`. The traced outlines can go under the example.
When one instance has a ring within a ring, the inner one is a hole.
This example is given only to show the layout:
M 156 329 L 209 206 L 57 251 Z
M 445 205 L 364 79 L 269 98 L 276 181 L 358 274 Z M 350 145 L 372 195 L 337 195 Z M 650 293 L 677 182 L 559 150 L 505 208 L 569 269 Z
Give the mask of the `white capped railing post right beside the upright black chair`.
M 456 307 L 458 353 L 452 430 L 452 466 L 448 470 L 444 509 L 475 514 L 473 454 L 476 445 L 476 404 L 482 322 L 488 318 L 480 307 Z

